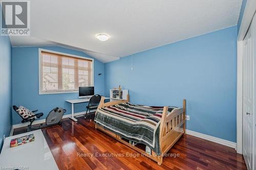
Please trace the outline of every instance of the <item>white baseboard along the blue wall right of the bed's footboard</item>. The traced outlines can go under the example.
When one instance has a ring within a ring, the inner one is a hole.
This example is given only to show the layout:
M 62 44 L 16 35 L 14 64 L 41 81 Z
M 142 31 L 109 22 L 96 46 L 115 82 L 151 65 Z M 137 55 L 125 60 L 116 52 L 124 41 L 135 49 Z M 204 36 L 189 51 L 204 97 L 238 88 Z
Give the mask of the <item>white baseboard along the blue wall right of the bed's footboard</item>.
M 235 142 L 231 142 L 231 141 L 228 141 L 228 140 L 220 139 L 220 138 L 217 138 L 217 137 L 214 137 L 214 136 L 209 136 L 209 135 L 205 135 L 205 134 L 190 131 L 190 130 L 186 130 L 186 133 L 188 135 L 196 136 L 196 137 L 199 137 L 199 138 L 202 138 L 202 139 L 206 139 L 206 140 L 210 140 L 210 141 L 213 141 L 213 142 L 216 142 L 216 143 L 219 143 L 219 144 L 223 144 L 227 147 L 237 149 L 237 143 L 235 143 Z

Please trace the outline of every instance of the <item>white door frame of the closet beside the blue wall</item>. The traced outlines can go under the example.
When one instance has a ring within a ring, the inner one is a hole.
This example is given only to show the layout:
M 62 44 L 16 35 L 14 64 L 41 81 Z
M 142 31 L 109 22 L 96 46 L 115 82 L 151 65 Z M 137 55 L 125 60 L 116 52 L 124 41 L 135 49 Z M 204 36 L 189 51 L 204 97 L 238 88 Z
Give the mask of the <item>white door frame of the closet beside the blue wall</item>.
M 256 1 L 247 0 L 237 39 L 237 153 L 242 154 L 243 141 L 243 39 L 256 12 Z

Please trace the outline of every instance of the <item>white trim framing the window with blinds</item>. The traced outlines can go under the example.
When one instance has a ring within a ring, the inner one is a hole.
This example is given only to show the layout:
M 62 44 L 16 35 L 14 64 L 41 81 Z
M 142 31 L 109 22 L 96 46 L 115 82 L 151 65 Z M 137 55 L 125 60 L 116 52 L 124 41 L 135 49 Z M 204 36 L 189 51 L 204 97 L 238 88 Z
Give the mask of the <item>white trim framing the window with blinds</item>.
M 61 52 L 56 52 L 56 51 L 52 51 L 52 50 L 45 50 L 44 48 L 38 48 L 38 84 L 39 84 L 38 91 L 39 91 L 39 94 L 78 93 L 78 90 L 75 90 L 75 91 L 41 92 L 41 52 L 49 52 L 49 53 L 55 53 L 55 54 L 70 56 L 70 57 L 92 60 L 92 78 L 93 78 L 93 86 L 94 86 L 94 59 L 93 58 L 76 56 L 76 55 L 72 55 L 72 54 L 68 54 L 68 53 L 61 53 Z

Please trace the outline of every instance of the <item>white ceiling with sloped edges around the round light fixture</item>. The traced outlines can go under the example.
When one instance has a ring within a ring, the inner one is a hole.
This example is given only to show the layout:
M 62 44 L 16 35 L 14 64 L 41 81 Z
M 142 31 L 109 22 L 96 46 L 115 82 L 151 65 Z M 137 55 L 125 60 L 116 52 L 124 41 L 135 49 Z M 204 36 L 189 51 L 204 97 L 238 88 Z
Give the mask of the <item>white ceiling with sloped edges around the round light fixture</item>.
M 31 37 L 13 46 L 67 45 L 109 62 L 237 25 L 242 0 L 33 0 Z M 108 41 L 95 38 L 110 35 Z

